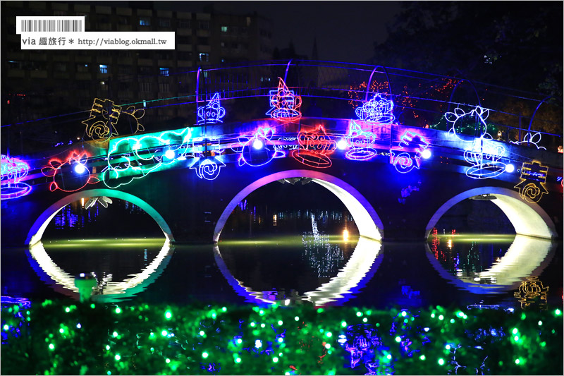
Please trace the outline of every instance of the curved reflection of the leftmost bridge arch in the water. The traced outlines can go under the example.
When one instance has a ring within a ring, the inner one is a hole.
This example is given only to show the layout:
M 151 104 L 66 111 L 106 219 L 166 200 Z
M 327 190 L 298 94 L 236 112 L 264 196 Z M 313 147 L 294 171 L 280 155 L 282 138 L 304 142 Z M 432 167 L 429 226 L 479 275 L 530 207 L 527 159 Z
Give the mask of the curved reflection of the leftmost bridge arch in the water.
M 144 291 L 149 284 L 152 284 L 162 274 L 171 259 L 173 249 L 171 243 L 166 239 L 159 254 L 145 269 L 142 269 L 140 273 L 130 274 L 130 278 L 124 281 L 102 281 L 103 286 L 94 287 L 92 300 L 99 302 L 122 301 Z M 50 284 L 55 291 L 78 300 L 75 277 L 65 272 L 51 260 L 42 242 L 39 241 L 30 246 L 28 258 L 39 277 Z

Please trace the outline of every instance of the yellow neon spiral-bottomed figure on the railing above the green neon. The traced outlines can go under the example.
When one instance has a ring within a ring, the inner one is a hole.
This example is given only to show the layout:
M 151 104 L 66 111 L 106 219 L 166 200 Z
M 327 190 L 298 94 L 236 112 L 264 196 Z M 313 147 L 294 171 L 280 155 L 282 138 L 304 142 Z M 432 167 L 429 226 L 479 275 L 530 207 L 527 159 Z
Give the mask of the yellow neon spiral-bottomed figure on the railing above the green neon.
M 121 107 L 110 99 L 94 98 L 90 118 L 82 121 L 86 126 L 86 135 L 94 140 L 107 140 L 117 135 L 116 124 L 121 114 Z

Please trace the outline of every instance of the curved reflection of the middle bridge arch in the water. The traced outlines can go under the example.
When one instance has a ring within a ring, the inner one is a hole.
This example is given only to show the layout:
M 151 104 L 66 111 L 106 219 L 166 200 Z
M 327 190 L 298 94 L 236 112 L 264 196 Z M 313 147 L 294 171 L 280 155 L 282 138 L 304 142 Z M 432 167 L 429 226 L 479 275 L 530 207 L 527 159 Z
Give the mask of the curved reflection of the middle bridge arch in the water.
M 312 302 L 314 305 L 326 305 L 328 303 L 341 304 L 353 298 L 353 293 L 362 288 L 380 266 L 383 259 L 380 249 L 381 243 L 379 241 L 361 236 L 353 255 L 350 256 L 346 265 L 337 275 L 314 291 L 304 293 L 300 297 L 301 300 Z M 214 244 L 214 257 L 223 277 L 227 279 L 235 292 L 243 296 L 246 301 L 259 305 L 285 302 L 283 296 L 281 297 L 282 300 L 273 299 L 271 296 L 275 296 L 275 294 L 272 291 L 253 291 L 250 287 L 245 286 L 243 281 L 236 279 L 223 260 L 217 244 Z M 288 297 L 286 297 L 286 300 L 288 300 Z

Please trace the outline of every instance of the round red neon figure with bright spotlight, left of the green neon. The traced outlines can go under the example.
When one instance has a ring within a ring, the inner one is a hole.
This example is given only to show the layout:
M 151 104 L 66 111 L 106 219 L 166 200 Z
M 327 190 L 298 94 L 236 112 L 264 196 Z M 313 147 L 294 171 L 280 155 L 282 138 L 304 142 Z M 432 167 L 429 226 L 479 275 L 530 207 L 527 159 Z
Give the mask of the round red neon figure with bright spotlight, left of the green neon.
M 87 152 L 71 152 L 68 158 L 61 162 L 59 159 L 51 159 L 48 166 L 41 171 L 45 176 L 52 176 L 53 181 L 49 184 L 49 190 L 62 190 L 63 192 L 75 192 L 81 190 L 87 184 L 94 184 L 99 179 L 90 174 L 88 169 Z

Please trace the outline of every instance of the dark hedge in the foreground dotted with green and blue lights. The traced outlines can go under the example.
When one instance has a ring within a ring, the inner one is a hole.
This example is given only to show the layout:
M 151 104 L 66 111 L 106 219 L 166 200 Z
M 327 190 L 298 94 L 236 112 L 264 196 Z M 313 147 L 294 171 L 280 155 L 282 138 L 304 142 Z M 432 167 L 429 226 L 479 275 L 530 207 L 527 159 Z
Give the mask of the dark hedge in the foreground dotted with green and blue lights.
M 4 305 L 1 373 L 562 375 L 560 310 Z M 373 372 L 373 373 L 367 373 Z

